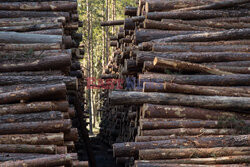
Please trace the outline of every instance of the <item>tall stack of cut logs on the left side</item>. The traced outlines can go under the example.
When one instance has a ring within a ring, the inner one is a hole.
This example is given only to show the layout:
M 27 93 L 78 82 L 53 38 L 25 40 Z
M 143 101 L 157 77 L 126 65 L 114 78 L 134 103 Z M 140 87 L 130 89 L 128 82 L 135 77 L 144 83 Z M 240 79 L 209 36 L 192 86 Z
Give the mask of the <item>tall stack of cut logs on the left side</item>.
M 81 26 L 75 0 L 0 2 L 0 166 L 93 163 Z

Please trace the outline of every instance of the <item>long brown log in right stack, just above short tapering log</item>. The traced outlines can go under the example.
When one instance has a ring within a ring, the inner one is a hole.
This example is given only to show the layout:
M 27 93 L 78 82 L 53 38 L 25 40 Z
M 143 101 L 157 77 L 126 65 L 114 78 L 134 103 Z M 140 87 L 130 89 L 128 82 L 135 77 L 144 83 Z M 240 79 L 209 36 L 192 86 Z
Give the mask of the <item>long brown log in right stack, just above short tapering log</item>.
M 148 12 L 146 19 L 182 19 L 182 20 L 201 20 L 218 17 L 244 17 L 249 16 L 246 10 L 193 10 L 193 11 L 170 11 L 170 12 Z

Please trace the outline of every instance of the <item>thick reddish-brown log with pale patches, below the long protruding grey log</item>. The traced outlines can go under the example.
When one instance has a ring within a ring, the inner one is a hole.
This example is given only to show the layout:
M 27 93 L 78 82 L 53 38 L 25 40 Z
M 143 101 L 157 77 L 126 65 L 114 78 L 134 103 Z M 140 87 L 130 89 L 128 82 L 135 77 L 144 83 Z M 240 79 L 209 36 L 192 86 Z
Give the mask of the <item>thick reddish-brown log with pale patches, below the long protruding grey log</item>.
M 144 104 L 141 107 L 142 118 L 185 118 L 199 120 L 249 119 L 233 112 L 206 110 L 182 106 Z

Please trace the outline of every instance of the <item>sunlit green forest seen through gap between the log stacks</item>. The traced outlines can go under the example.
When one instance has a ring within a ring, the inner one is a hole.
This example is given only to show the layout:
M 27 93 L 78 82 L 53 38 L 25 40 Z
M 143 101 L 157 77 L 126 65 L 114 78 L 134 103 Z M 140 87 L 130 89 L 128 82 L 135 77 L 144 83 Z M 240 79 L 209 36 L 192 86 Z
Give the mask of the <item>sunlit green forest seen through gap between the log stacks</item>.
M 119 27 L 101 27 L 102 21 L 123 20 L 126 6 L 136 6 L 135 0 L 78 0 L 80 20 L 83 27 L 79 32 L 83 34 L 82 45 L 85 56 L 82 64 L 85 76 L 99 78 L 103 68 L 113 55 L 109 47 L 109 37 L 117 34 Z M 86 89 L 86 109 L 89 113 L 90 134 L 98 129 L 100 122 L 101 89 Z

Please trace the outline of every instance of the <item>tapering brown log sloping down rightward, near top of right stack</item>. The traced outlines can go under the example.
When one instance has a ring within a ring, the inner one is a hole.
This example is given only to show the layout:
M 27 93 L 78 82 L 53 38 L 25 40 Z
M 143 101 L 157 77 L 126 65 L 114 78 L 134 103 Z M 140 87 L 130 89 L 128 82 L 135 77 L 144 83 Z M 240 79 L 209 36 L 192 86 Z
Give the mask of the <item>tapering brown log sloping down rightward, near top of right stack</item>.
M 145 29 L 159 29 L 159 30 L 183 30 L 183 31 L 219 31 L 217 28 L 199 27 L 190 24 L 181 24 L 176 22 L 161 22 L 146 19 L 143 23 Z

